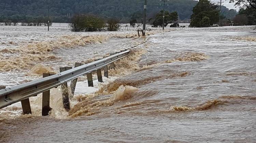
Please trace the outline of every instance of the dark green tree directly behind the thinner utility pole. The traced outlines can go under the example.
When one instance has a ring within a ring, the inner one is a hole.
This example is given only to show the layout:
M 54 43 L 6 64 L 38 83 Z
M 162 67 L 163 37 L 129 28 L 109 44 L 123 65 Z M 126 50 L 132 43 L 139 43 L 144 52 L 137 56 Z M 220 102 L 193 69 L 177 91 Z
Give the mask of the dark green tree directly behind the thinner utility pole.
M 174 21 L 178 20 L 178 13 L 177 12 L 171 12 L 165 11 L 165 23 L 164 26 L 166 27 L 169 23 L 172 23 Z M 156 14 L 155 20 L 153 22 L 153 27 L 162 27 L 163 24 L 163 11 L 160 11 Z

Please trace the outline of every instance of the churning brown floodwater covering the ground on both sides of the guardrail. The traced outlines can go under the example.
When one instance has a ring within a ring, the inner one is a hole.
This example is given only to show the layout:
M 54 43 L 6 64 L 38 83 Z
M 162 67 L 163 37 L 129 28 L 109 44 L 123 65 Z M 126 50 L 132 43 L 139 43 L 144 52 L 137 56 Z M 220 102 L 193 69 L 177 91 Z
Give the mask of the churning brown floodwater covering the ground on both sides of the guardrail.
M 115 62 L 104 83 L 94 75 L 95 87 L 88 87 L 86 77 L 79 78 L 69 112 L 59 88 L 51 90 L 47 117 L 40 116 L 41 95 L 30 98 L 32 115 L 22 115 L 20 103 L 1 109 L 1 142 L 255 142 L 253 26 L 156 30 L 140 38 L 133 32 L 55 35 L 61 33 L 62 38 L 40 40 L 40 48 L 32 46 L 41 53 L 28 53 L 30 43 L 20 44 L 24 40 L 1 45 L 2 61 L 55 58 L 23 59 L 27 66 L 2 68 L 0 84 L 13 86 L 120 49 L 131 52 Z

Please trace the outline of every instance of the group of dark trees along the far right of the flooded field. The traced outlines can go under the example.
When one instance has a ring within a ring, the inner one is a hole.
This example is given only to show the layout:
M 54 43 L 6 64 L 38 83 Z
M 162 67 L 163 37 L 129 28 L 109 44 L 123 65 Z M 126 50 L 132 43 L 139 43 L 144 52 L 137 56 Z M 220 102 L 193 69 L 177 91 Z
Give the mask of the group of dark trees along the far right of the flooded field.
M 199 0 L 197 5 L 193 8 L 193 14 L 190 18 L 190 27 L 210 27 L 213 26 L 213 24 L 219 24 L 221 26 L 255 25 L 256 1 L 230 0 L 230 2 L 236 2 L 238 6 L 245 1 L 249 4 L 244 4 L 239 13 L 229 19 L 223 13 L 219 12 L 219 6 L 215 3 L 211 3 L 209 0 Z M 221 17 L 221 21 L 219 21 L 219 17 Z

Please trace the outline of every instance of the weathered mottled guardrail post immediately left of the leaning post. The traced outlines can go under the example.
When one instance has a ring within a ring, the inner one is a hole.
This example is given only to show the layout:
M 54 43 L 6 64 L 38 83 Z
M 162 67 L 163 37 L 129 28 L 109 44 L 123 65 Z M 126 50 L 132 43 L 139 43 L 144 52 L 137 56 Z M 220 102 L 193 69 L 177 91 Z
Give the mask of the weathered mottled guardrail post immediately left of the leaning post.
M 72 67 L 64 67 L 64 68 L 59 68 L 60 72 L 70 70 Z M 66 109 L 66 111 L 70 110 L 70 104 L 69 104 L 69 90 L 68 90 L 68 83 L 64 83 L 61 85 L 61 92 L 62 92 L 62 101 L 63 101 L 63 106 Z

